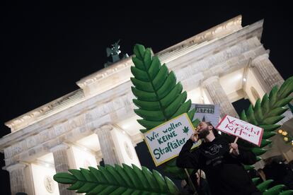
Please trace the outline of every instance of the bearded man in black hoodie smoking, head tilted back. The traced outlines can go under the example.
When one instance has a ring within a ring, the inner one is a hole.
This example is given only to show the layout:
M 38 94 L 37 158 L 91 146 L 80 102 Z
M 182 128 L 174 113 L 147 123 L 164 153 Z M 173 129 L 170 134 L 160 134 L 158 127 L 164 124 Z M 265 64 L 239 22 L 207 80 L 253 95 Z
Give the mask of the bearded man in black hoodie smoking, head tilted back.
M 177 166 L 202 169 L 212 194 L 261 194 L 242 165 L 253 165 L 256 162 L 251 150 L 244 150 L 237 143 L 229 143 L 209 122 L 200 122 L 197 129 L 198 138 L 203 139 L 203 143 L 190 152 L 193 143 L 197 141 L 197 136 L 193 134 L 183 145 Z M 233 148 L 232 153 L 229 153 L 230 148 Z

